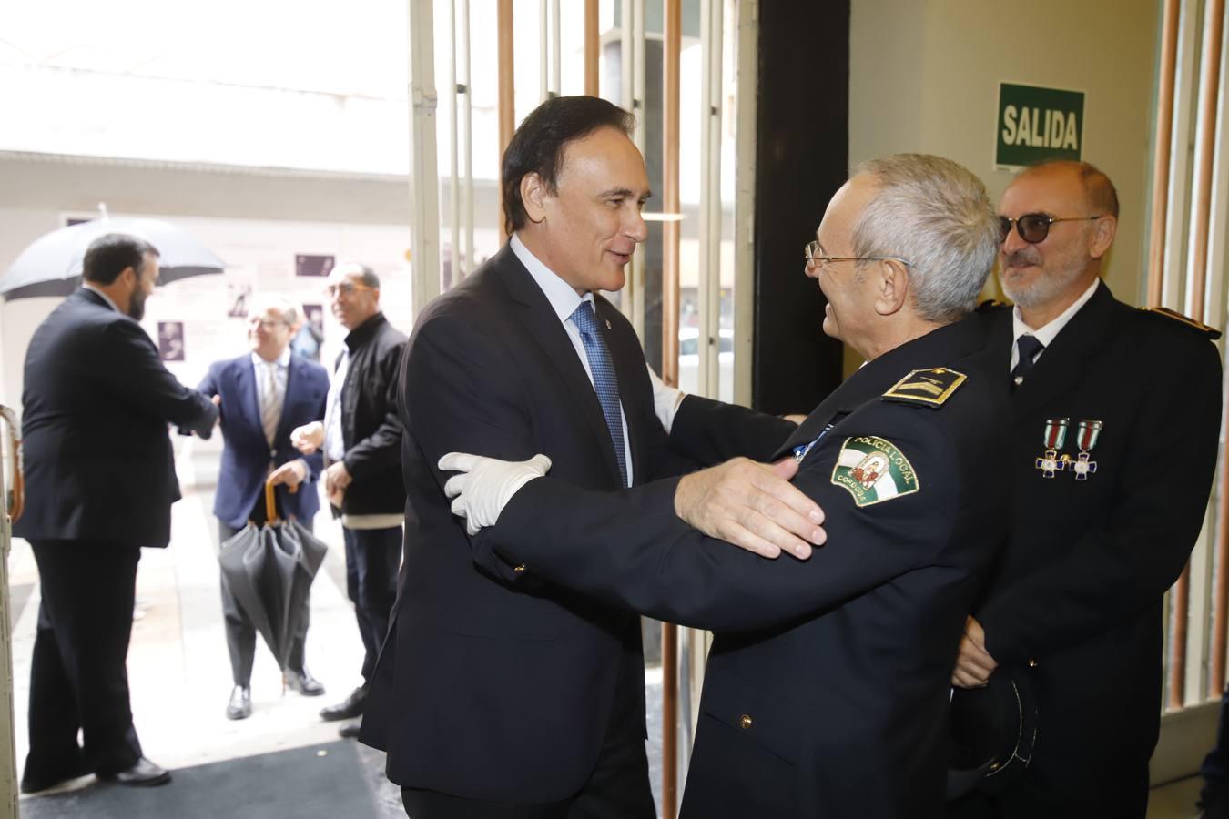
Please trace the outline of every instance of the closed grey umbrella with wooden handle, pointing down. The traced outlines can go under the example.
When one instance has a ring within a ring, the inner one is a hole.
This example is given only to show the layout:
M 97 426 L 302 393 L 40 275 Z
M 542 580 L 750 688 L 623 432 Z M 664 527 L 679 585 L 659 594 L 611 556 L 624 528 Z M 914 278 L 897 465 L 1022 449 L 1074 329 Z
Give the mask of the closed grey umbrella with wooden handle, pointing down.
M 278 518 L 274 487 L 264 485 L 268 522 L 248 523 L 221 545 L 218 561 L 235 599 L 286 669 L 302 625 L 302 603 L 328 546 L 299 521 Z

